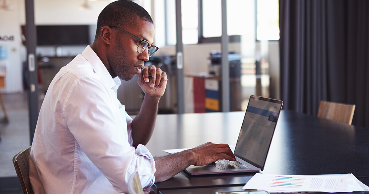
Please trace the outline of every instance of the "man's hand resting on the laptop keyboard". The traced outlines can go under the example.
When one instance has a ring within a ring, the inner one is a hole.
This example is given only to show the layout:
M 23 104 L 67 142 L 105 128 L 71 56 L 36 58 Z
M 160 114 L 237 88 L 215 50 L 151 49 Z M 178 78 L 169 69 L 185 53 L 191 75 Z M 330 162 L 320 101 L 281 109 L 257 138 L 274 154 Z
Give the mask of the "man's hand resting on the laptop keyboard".
M 228 144 L 215 144 L 208 142 L 194 147 L 189 151 L 194 153 L 191 164 L 195 166 L 203 166 L 222 159 L 230 161 L 236 160 Z

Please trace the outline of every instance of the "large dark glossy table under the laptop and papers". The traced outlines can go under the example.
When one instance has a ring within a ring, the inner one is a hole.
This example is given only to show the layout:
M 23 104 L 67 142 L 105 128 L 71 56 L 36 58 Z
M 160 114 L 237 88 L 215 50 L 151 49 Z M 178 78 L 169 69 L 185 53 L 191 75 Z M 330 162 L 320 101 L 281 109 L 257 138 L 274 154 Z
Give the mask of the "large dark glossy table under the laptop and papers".
M 158 115 L 146 145 L 154 156 L 164 149 L 206 142 L 235 144 L 245 112 Z M 369 130 L 314 116 L 284 111 L 261 173 L 352 173 L 369 184 Z M 156 193 L 215 193 L 239 190 L 255 173 L 191 176 L 182 171 L 152 187 Z

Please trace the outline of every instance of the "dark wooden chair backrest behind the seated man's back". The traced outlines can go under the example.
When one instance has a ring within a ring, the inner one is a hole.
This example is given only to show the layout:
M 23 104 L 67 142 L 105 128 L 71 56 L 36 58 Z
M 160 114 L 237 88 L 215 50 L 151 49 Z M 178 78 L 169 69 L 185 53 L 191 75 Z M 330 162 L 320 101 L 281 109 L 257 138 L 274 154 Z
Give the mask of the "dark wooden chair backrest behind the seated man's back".
M 34 194 L 30 182 L 30 152 L 31 146 L 13 158 L 14 168 L 24 194 Z

